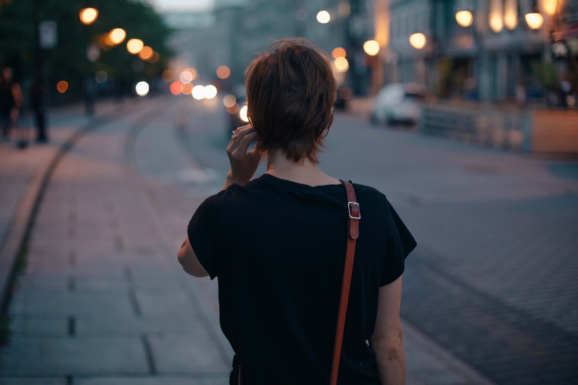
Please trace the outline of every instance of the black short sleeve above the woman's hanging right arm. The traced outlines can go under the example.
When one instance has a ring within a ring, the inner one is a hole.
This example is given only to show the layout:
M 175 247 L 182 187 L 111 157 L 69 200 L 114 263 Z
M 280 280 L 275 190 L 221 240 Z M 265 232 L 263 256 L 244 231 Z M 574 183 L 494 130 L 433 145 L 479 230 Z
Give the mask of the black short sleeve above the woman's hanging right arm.
M 381 273 L 379 286 L 394 282 L 402 275 L 405 269 L 405 258 L 416 247 L 416 240 L 409 232 L 403 221 L 395 212 L 390 202 L 386 200 L 386 210 L 389 218 L 389 228 L 386 240 L 386 261 Z

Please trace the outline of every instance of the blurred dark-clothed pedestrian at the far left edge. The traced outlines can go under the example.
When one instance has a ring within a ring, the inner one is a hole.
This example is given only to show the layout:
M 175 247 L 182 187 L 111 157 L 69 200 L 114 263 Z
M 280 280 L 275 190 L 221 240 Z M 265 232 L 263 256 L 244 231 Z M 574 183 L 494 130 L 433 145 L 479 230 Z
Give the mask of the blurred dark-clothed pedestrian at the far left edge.
M 23 105 L 20 84 L 12 82 L 12 68 L 6 67 L 0 73 L 0 124 L 2 139 L 8 139 L 10 130 L 18 119 L 18 109 Z

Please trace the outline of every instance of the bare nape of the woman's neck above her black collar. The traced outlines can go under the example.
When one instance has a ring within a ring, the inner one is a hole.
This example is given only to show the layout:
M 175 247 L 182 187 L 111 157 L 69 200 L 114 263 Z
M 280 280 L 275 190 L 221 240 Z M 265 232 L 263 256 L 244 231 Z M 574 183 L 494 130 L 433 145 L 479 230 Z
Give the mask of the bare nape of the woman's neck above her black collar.
M 269 154 L 267 173 L 280 179 L 291 180 L 309 186 L 323 184 L 340 184 L 338 179 L 331 177 L 317 168 L 309 159 L 295 163 L 279 152 Z

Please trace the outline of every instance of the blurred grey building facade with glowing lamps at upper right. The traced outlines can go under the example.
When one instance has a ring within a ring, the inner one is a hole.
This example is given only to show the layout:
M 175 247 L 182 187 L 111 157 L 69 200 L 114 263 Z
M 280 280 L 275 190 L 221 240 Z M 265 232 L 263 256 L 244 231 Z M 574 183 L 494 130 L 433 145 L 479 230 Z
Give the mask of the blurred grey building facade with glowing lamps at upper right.
M 391 0 L 385 80 L 425 84 L 440 97 L 480 100 L 546 97 L 544 90 L 560 88 L 549 84 L 554 77 L 562 88 L 572 88 L 568 65 L 578 53 L 572 36 L 577 3 Z M 462 11 L 467 12 L 463 26 L 456 16 Z M 540 27 L 530 25 L 528 14 Z M 563 31 L 568 36 L 558 41 Z M 427 39 L 423 48 L 410 44 L 416 33 Z

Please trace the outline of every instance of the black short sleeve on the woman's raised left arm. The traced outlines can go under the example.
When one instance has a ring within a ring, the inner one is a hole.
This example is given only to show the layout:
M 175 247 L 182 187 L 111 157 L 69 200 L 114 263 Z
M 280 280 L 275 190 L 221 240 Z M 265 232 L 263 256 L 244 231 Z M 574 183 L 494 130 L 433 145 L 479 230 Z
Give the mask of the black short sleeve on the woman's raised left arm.
M 198 207 L 188 223 L 188 240 L 211 279 L 218 275 L 218 235 L 221 199 L 225 191 L 210 196 Z

